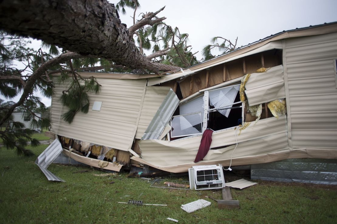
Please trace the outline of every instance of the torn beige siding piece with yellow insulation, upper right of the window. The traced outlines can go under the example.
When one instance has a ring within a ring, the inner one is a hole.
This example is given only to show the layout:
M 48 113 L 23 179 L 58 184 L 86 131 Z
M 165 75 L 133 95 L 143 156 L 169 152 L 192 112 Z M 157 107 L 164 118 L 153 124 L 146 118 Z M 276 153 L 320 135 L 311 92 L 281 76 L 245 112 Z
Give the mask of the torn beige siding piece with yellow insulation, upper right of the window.
M 283 66 L 278 65 L 267 72 L 250 74 L 245 88 L 249 106 L 285 98 Z

